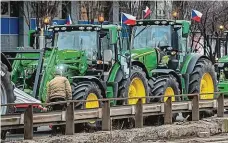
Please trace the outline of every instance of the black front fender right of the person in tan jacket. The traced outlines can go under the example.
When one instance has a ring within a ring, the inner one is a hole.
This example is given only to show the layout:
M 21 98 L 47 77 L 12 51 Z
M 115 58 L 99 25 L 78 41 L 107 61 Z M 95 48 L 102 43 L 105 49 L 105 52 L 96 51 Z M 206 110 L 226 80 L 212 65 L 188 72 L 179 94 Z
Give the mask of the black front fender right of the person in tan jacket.
M 95 82 L 100 90 L 102 95 L 105 95 L 105 89 L 106 89 L 106 84 L 105 82 L 102 82 L 99 78 L 94 77 L 94 76 L 73 76 L 71 77 L 71 79 L 73 79 L 73 81 L 92 81 Z

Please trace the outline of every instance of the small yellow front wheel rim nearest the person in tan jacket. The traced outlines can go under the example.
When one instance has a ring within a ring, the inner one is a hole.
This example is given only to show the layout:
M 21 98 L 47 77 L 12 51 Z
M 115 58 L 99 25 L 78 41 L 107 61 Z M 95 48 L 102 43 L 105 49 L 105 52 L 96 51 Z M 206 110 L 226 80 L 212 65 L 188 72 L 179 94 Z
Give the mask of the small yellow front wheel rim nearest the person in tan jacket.
M 98 101 L 91 101 L 91 100 L 98 100 L 97 95 L 95 93 L 90 93 L 86 98 L 86 109 L 92 109 L 92 108 L 99 108 L 99 102 Z M 89 102 L 87 102 L 89 101 Z M 89 121 L 89 123 L 94 124 L 95 121 Z

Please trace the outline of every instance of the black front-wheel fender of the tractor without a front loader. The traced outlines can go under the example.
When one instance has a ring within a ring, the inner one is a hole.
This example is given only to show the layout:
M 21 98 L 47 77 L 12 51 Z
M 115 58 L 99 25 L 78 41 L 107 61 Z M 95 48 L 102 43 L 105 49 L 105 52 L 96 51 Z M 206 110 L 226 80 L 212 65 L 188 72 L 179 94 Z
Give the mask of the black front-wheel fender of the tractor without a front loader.
M 172 75 L 176 78 L 179 83 L 179 89 L 182 91 L 181 77 L 172 69 L 154 69 L 151 71 L 152 73 L 162 74 L 162 75 Z

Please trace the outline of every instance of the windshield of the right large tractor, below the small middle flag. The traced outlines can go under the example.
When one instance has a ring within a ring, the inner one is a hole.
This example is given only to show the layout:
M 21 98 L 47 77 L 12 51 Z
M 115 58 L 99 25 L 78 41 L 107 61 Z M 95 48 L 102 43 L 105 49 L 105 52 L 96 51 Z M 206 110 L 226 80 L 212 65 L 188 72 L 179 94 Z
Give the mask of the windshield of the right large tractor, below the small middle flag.
M 136 26 L 133 48 L 171 46 L 171 26 Z

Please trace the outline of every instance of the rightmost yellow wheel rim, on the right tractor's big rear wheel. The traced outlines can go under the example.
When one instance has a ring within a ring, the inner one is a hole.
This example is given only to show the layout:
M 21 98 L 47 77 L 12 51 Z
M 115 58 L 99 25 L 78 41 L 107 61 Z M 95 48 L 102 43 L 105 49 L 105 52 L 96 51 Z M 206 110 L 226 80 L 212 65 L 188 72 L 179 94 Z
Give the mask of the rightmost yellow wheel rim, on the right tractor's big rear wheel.
M 213 94 L 204 94 L 204 93 L 213 93 L 214 92 L 214 82 L 209 73 L 205 73 L 201 78 L 200 82 L 200 99 L 213 99 Z

